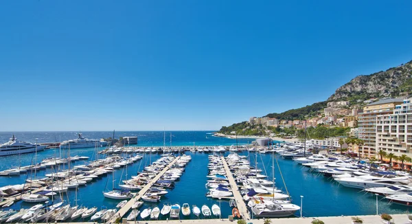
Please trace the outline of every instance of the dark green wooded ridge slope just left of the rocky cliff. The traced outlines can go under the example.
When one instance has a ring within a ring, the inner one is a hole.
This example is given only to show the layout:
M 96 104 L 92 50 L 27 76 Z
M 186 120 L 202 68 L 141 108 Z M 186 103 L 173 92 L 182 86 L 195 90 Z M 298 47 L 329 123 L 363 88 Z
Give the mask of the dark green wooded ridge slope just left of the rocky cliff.
M 269 113 L 265 117 L 269 118 L 277 118 L 279 120 L 296 120 L 296 119 L 303 119 L 303 117 L 314 117 L 321 112 L 327 106 L 328 102 L 315 102 L 312 105 L 308 105 L 306 107 L 301 107 L 298 109 L 291 109 L 285 111 L 283 113 Z

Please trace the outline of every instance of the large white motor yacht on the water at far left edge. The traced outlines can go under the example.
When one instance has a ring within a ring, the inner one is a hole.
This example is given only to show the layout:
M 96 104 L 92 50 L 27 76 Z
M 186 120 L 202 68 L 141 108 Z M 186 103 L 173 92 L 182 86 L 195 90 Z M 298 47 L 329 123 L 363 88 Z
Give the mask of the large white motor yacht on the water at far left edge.
M 10 140 L 5 144 L 0 145 L 0 156 L 16 155 L 20 153 L 34 153 L 36 151 L 45 150 L 46 146 L 40 144 L 32 144 L 30 142 L 17 142 L 17 138 L 10 137 Z

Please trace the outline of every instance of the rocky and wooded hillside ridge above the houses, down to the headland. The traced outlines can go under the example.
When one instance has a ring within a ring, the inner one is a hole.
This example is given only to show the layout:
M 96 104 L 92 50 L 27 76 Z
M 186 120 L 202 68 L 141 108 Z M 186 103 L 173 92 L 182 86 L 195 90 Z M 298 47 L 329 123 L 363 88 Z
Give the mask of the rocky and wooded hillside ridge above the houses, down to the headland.
M 341 100 L 350 101 L 350 106 L 363 104 L 370 98 L 400 97 L 412 95 L 412 60 L 398 67 L 379 71 L 368 76 L 356 76 L 345 85 L 336 89 L 335 93 L 323 102 L 298 109 L 290 109 L 282 113 L 269 113 L 264 117 L 279 120 L 302 120 L 304 117 L 314 117 L 326 107 L 328 102 Z M 240 122 L 231 126 L 223 126 L 220 133 L 240 132 L 244 135 L 261 135 L 265 132 L 263 126 Z

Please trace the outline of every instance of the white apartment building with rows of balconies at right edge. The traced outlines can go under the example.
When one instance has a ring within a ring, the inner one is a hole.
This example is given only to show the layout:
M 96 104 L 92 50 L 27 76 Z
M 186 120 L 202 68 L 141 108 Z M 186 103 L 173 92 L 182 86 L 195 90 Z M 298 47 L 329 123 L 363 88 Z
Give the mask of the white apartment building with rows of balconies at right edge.
M 411 100 L 396 105 L 391 114 L 376 116 L 376 150 L 412 157 Z

